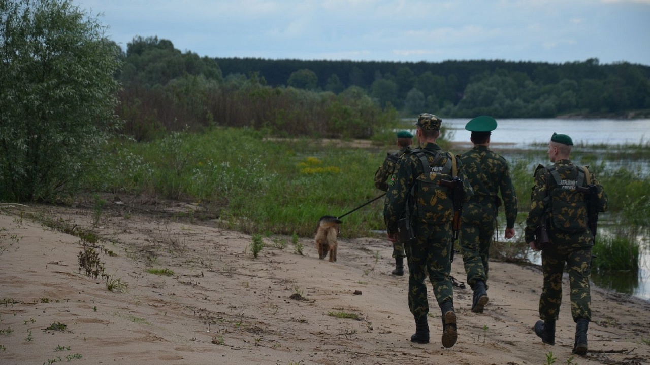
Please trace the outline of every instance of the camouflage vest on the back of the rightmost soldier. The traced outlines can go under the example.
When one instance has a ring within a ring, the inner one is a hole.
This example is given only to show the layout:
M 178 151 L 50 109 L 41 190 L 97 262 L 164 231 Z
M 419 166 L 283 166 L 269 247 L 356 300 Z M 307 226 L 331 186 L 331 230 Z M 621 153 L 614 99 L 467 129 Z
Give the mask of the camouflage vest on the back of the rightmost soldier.
M 546 169 L 552 179 L 547 179 L 548 195 L 544 203 L 554 230 L 582 233 L 588 227 L 587 203 L 584 192 L 577 188 L 589 186 L 591 176 L 586 167 L 573 166 L 571 169 L 570 179 L 562 179 L 555 166 Z

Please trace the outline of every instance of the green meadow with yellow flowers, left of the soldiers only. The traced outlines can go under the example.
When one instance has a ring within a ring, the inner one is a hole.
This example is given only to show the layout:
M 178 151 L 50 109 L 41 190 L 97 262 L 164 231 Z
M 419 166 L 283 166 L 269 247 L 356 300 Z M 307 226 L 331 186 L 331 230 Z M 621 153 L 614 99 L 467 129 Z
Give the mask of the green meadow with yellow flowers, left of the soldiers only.
M 151 143 L 115 142 L 92 190 L 198 201 L 248 233 L 310 236 L 320 216 L 341 216 L 382 194 L 374 172 L 386 147 L 265 140 L 251 129 L 174 132 Z M 344 218 L 343 235 L 382 229 L 383 199 Z

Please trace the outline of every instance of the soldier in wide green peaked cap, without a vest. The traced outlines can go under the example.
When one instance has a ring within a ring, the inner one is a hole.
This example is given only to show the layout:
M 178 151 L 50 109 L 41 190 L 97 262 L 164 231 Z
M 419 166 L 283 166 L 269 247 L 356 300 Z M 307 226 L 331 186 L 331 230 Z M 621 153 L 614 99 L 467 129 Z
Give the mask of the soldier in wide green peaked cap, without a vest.
M 499 190 L 506 211 L 505 238 L 515 235 L 517 195 L 510 179 L 508 162 L 489 149 L 491 131 L 496 128 L 497 121 L 490 116 L 478 116 L 467 122 L 465 129 L 472 132 L 474 147 L 460 155 L 467 179 L 474 190 L 474 195 L 463 207 L 460 227 L 460 247 L 467 283 L 474 292 L 474 313 L 482 313 L 488 300 L 489 247 L 501 205 Z

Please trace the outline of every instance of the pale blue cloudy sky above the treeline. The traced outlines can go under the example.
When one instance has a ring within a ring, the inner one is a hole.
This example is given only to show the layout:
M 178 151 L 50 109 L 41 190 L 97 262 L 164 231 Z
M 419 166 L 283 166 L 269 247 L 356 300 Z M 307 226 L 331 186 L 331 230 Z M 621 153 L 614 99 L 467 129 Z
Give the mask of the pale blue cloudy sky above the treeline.
M 650 66 L 650 0 L 72 2 L 123 49 L 157 36 L 201 57 Z

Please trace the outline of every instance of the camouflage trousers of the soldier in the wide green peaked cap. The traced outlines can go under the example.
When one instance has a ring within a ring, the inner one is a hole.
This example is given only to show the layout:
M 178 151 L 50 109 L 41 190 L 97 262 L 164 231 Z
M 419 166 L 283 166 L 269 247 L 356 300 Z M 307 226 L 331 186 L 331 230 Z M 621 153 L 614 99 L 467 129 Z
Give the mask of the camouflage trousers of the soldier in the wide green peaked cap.
M 495 230 L 495 219 L 485 215 L 484 220 L 465 221 L 460 225 L 460 252 L 463 255 L 467 284 L 486 283 L 489 271 L 489 247 Z

